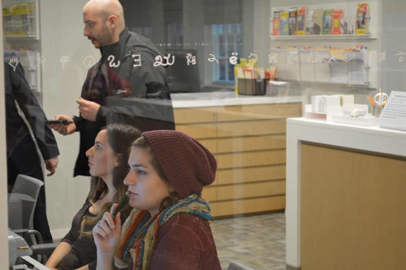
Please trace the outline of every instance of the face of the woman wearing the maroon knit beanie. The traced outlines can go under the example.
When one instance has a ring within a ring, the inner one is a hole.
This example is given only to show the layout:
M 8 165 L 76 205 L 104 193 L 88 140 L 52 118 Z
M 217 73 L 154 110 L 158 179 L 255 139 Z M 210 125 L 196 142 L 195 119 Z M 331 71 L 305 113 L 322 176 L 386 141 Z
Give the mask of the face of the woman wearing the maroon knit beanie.
M 151 155 L 144 149 L 132 148 L 128 165 L 130 171 L 124 184 L 128 186 L 129 205 L 148 210 L 154 216 L 159 212 L 161 200 L 169 195 L 170 187 L 159 177 L 151 164 Z

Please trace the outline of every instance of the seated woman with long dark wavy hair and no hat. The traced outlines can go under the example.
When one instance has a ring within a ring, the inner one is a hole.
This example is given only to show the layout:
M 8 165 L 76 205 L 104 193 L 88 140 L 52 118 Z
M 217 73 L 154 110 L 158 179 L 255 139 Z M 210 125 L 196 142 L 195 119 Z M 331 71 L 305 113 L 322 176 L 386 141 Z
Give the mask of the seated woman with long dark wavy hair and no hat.
M 72 221 L 72 228 L 49 257 L 46 266 L 58 269 L 96 269 L 96 245 L 92 228 L 114 203 L 124 196 L 127 186 L 131 143 L 141 131 L 129 125 L 112 124 L 101 130 L 86 155 L 92 175 L 86 203 Z M 128 201 L 128 200 L 127 200 Z M 128 203 L 121 209 L 121 221 L 129 216 Z M 118 220 L 120 222 L 120 220 Z

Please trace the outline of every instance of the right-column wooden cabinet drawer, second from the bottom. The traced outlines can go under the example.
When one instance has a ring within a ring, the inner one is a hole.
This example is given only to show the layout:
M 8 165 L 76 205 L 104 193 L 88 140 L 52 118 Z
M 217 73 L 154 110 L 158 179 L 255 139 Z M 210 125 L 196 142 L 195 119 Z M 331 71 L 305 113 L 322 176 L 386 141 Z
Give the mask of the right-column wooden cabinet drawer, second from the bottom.
M 234 184 L 217 187 L 217 200 L 243 199 L 285 195 L 286 181 L 266 181 L 259 183 Z

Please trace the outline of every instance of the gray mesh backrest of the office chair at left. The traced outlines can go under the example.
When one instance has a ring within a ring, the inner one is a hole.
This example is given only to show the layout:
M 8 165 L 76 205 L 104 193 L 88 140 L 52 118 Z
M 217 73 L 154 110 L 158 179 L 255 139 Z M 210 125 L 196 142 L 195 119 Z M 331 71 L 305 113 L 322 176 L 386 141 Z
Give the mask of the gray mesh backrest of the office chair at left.
M 37 204 L 38 194 L 44 182 L 25 175 L 18 175 L 8 200 L 9 227 L 15 229 L 33 229 L 32 218 Z M 26 235 L 29 246 L 36 244 L 34 235 Z

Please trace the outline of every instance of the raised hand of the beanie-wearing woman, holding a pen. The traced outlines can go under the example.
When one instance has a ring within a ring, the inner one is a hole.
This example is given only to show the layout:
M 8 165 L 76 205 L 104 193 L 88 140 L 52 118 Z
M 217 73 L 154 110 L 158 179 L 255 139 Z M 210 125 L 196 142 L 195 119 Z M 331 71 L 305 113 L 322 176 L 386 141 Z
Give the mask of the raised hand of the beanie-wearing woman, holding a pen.
M 117 208 L 117 204 L 113 204 L 110 213 L 106 212 L 103 218 L 97 222 L 93 228 L 94 243 L 97 247 L 97 257 L 105 256 L 106 258 L 113 258 L 114 252 L 120 243 L 121 238 L 121 220 L 118 213 L 114 220 L 111 215 Z

